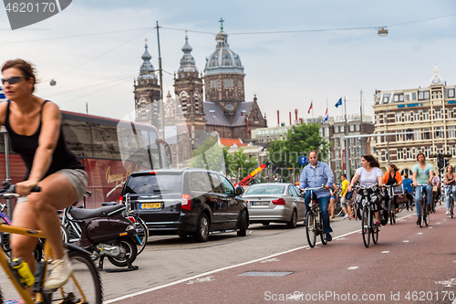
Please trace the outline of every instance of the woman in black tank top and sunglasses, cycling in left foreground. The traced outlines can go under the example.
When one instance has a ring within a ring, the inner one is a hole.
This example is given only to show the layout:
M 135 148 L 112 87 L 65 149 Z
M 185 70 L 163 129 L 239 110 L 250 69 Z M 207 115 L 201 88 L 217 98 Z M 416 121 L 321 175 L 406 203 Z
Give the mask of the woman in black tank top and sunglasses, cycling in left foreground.
M 24 182 L 16 183 L 16 194 L 21 197 L 17 200 L 13 223 L 43 230 L 54 257 L 44 285 L 58 288 L 66 284 L 73 267 L 63 250 L 56 210 L 82 198 L 88 176 L 75 154 L 67 149 L 57 105 L 33 95 L 35 68 L 22 59 L 9 60 L 2 74 L 3 90 L 10 101 L 0 104 L 0 123 L 5 125 L 12 149 L 21 156 L 27 169 Z M 31 193 L 36 185 L 41 187 L 41 192 Z M 36 242 L 35 237 L 13 235 L 13 257 L 22 257 L 33 269 Z

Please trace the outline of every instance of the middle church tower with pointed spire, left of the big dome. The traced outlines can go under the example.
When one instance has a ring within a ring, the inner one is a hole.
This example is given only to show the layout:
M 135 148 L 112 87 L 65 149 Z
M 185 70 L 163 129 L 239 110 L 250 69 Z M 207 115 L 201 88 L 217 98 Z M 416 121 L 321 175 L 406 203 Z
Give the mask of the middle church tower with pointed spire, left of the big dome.
M 182 52 L 181 67 L 177 70 L 177 75 L 174 75 L 174 94 L 181 103 L 183 117 L 194 139 L 196 133 L 204 131 L 206 120 L 202 100 L 202 78 L 192 57 L 192 47 L 187 36 Z

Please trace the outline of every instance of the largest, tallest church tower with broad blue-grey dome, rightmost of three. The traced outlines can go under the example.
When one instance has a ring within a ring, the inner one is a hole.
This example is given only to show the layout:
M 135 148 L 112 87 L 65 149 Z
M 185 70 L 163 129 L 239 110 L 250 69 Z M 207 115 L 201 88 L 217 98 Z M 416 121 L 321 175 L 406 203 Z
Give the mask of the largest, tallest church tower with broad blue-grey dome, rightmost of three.
M 223 115 L 233 122 L 239 104 L 245 101 L 245 74 L 241 58 L 228 45 L 228 35 L 223 32 L 223 21 L 220 20 L 221 31 L 215 37 L 215 51 L 206 58 L 204 90 L 206 101 L 217 103 Z

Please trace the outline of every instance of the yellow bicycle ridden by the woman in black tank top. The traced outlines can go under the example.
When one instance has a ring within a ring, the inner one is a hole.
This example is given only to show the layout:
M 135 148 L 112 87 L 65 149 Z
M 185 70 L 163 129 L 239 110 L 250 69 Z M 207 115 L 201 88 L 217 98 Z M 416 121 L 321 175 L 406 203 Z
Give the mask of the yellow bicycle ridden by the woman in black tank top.
M 39 189 L 34 189 L 39 191 Z M 3 193 L 0 198 L 18 197 L 15 193 L 15 187 L 10 186 Z M 0 232 L 8 234 L 17 234 L 23 236 L 33 236 L 45 238 L 46 236 L 40 230 L 22 228 L 15 225 L 7 225 L 0 223 Z M 52 261 L 51 249 L 48 243 L 45 242 L 44 256 L 38 263 L 36 263 L 35 275 L 30 270 L 23 272 L 13 267 L 14 264 L 10 263 L 9 258 L 5 254 L 5 250 L 0 247 L 0 266 L 3 268 L 6 277 L 11 281 L 16 288 L 17 293 L 27 304 L 31 303 L 95 303 L 100 304 L 103 300 L 101 282 L 98 274 L 97 267 L 93 264 L 89 257 L 89 253 L 77 246 L 66 244 L 68 250 L 68 257 L 74 267 L 74 272 L 61 288 L 47 289 L 44 288 L 48 276 L 48 265 Z M 25 263 L 25 262 L 22 262 Z M 20 264 L 23 267 L 28 267 L 26 264 Z M 24 269 L 24 268 L 20 268 Z M 36 299 L 32 299 L 32 295 L 27 287 L 32 287 L 36 293 Z M 0 303 L 4 303 L 2 292 L 0 290 Z

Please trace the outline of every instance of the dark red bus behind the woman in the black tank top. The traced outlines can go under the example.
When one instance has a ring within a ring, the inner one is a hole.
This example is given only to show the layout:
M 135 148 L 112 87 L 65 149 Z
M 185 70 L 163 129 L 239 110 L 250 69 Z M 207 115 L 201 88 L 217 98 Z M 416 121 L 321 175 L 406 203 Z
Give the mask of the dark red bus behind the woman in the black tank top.
M 84 163 L 88 173 L 88 208 L 117 201 L 127 177 L 144 169 L 171 167 L 170 145 L 159 138 L 157 129 L 145 123 L 62 111 L 62 128 L 67 147 Z M 0 135 L 0 178 L 6 178 L 5 134 Z M 19 155 L 9 154 L 10 178 L 20 182 L 26 166 Z

